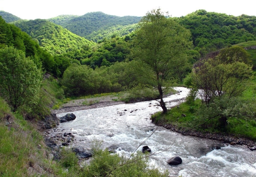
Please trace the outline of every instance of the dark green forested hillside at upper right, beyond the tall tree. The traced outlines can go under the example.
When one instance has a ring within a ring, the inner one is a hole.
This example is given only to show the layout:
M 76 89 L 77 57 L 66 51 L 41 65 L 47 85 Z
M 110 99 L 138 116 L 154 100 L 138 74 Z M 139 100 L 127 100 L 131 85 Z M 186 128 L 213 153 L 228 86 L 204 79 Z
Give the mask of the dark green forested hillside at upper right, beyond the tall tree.
M 220 14 L 198 10 L 177 22 L 189 29 L 195 50 L 201 56 L 230 45 L 256 40 L 256 17 Z

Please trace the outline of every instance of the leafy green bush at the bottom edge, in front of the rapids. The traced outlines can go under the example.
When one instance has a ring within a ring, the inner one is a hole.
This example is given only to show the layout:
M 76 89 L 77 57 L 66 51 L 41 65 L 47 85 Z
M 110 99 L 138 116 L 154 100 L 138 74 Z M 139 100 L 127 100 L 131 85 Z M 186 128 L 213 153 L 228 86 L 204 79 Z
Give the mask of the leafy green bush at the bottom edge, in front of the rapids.
M 117 154 L 110 154 L 108 150 L 96 149 L 93 160 L 85 166 L 84 177 L 167 177 L 167 172 L 160 172 L 155 168 L 148 168 L 148 158 L 141 152 L 133 155 L 130 160 Z

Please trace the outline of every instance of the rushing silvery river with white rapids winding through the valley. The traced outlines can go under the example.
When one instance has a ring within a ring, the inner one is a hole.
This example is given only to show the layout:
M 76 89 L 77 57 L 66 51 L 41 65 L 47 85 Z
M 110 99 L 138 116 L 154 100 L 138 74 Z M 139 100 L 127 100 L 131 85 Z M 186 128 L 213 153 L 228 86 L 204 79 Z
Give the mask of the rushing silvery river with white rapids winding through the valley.
M 175 89 L 181 92 L 165 98 L 168 107 L 179 104 L 179 101 L 172 100 L 184 98 L 188 93 L 183 87 Z M 151 123 L 150 116 L 158 111 L 161 111 L 161 107 L 157 105 L 157 101 L 79 110 L 73 112 L 76 115 L 74 121 L 61 123 L 58 129 L 65 129 L 76 136 L 73 146 L 90 149 L 91 142 L 99 140 L 102 141 L 103 149 L 111 147 L 128 157 L 152 134 L 143 146 L 149 146 L 151 153 L 164 151 L 151 156 L 150 164 L 162 170 L 168 169 L 170 175 L 256 177 L 255 151 L 239 145 L 225 145 L 221 149 L 212 150 L 212 146 L 220 142 L 184 136 L 155 126 Z M 64 112 L 57 116 L 66 114 Z M 142 146 L 137 149 L 141 150 Z M 166 161 L 175 155 L 182 158 L 182 164 L 169 166 Z

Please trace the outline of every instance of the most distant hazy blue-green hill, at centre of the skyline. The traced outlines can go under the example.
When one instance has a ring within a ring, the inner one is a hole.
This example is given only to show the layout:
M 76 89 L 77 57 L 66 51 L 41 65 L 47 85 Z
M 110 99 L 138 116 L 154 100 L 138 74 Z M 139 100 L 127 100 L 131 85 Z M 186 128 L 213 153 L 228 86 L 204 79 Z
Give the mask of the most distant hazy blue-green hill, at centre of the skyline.
M 55 18 L 49 20 L 53 22 Z M 63 17 L 63 19 L 64 18 L 65 17 Z M 116 28 L 116 26 L 121 27 L 135 24 L 138 23 L 140 19 L 141 17 L 118 17 L 114 15 L 107 15 L 102 12 L 91 12 L 79 17 L 66 17 L 61 22 L 58 20 L 57 22 L 74 34 L 87 39 L 93 39 L 90 35 L 95 31 L 104 31 L 111 27 Z M 96 34 L 99 34 L 99 32 L 96 32 Z

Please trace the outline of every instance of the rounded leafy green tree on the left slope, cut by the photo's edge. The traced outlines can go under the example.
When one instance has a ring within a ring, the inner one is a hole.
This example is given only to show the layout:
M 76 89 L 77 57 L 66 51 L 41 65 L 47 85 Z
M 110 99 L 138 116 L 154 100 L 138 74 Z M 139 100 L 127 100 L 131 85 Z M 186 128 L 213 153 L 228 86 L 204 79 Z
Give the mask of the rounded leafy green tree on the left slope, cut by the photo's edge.
M 35 104 L 41 88 L 41 69 L 13 47 L 0 49 L 0 94 L 13 111 Z

